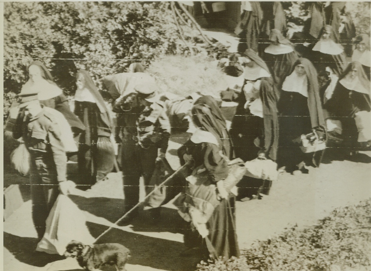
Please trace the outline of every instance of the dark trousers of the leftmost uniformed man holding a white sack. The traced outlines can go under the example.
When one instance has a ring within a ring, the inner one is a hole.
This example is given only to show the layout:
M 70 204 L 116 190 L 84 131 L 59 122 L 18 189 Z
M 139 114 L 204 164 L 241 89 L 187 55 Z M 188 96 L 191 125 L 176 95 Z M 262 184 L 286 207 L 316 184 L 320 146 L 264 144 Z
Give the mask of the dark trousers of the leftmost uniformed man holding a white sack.
M 30 184 L 32 200 L 32 220 L 39 238 L 45 233 L 45 221 L 58 195 L 59 185 L 55 170 L 42 161 L 30 161 Z

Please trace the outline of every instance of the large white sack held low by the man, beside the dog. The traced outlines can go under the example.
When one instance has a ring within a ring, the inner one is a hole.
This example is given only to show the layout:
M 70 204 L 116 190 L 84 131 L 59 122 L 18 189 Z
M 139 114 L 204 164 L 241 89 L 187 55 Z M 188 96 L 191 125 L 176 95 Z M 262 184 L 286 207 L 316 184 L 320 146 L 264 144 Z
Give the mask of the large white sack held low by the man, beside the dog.
M 36 251 L 63 255 L 72 240 L 92 245 L 95 240 L 85 222 L 85 215 L 77 205 L 60 194 L 46 219 L 46 231 Z

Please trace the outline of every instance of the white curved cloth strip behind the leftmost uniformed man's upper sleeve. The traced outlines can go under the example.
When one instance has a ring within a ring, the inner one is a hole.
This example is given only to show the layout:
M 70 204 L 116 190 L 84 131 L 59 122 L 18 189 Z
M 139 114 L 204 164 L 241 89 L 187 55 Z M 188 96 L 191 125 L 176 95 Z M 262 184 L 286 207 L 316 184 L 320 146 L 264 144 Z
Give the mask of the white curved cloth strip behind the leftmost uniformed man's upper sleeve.
M 76 151 L 78 151 L 77 144 L 73 138 L 71 126 L 69 126 L 65 116 L 63 116 L 63 114 L 60 113 L 59 111 L 50 107 L 45 106 L 44 110 L 49 112 L 56 118 L 56 121 L 60 128 L 60 140 L 62 141 L 63 146 L 65 147 L 66 153 L 75 153 Z

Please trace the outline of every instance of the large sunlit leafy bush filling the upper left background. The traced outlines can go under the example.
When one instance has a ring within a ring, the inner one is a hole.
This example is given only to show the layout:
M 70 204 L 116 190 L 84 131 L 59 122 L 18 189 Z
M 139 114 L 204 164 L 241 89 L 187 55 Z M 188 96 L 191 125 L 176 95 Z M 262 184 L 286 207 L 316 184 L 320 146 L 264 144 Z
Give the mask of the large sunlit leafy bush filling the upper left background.
M 181 53 L 168 2 L 13 2 L 4 4 L 4 90 L 18 93 L 40 59 L 65 92 L 77 69 L 93 79 Z

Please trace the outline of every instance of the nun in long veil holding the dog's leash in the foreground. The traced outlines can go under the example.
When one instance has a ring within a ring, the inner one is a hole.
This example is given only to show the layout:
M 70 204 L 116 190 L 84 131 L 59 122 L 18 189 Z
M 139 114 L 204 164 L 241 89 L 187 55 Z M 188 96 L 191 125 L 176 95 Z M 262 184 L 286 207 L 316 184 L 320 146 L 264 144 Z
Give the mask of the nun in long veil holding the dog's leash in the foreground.
M 232 142 L 226 121 L 211 96 L 203 96 L 194 103 L 192 116 L 197 129 L 190 140 L 178 149 L 178 156 L 181 164 L 193 161 L 186 175 L 190 175 L 199 166 L 204 168 L 210 183 L 218 188 L 220 202 L 206 222 L 206 236 L 202 238 L 202 231 L 194 225 L 196 220 L 192 219 L 192 230 L 185 230 L 184 244 L 190 248 L 188 252 L 197 252 L 205 260 L 210 255 L 213 259 L 223 257 L 227 261 L 232 256 L 240 255 L 236 234 L 235 195 L 223 188 L 223 179 L 228 176 L 227 160 L 233 156 Z M 188 194 L 184 195 L 184 201 L 187 202 Z M 184 201 L 178 200 L 177 205 L 188 206 L 182 203 Z M 187 212 L 190 209 L 180 210 Z

